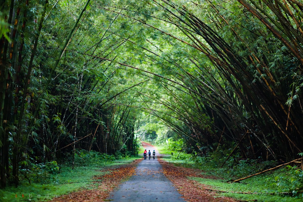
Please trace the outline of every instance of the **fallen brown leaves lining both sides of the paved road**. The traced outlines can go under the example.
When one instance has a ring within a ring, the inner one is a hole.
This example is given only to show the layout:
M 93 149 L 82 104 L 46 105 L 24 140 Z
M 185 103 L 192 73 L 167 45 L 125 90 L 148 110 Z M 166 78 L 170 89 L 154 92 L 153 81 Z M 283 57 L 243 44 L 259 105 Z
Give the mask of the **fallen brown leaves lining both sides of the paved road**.
M 160 160 L 160 159 L 159 159 Z M 133 175 L 143 175 L 143 171 L 136 173 L 137 164 L 142 161 L 138 159 L 129 164 L 109 167 L 101 170 L 102 173 L 107 171 L 107 174 L 96 175 L 93 180 L 93 189 L 83 189 L 64 195 L 63 197 L 54 198 L 52 202 L 95 202 L 108 201 L 109 194 L 114 191 L 123 181 Z M 177 167 L 171 163 L 160 160 L 162 169 L 159 171 L 148 170 L 148 174 L 163 173 L 174 184 L 178 192 L 183 195 L 188 202 L 236 202 L 237 200 L 228 197 L 216 197 L 213 192 L 209 192 L 206 185 L 200 184 L 195 180 L 190 180 L 188 177 L 203 177 L 214 178 L 211 176 L 201 175 L 198 169 Z M 157 173 L 155 173 L 157 172 Z M 146 173 L 145 173 L 146 174 Z M 91 186 L 92 187 L 92 186 Z M 71 197 L 70 197 L 71 196 Z

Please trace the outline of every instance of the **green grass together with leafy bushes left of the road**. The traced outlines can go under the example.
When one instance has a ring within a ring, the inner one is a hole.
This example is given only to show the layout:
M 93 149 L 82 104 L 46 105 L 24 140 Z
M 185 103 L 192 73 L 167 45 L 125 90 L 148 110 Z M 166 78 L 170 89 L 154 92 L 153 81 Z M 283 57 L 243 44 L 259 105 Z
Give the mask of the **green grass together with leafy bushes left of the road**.
M 107 174 L 100 171 L 102 167 L 128 163 L 136 159 L 122 153 L 107 155 L 81 150 L 78 154 L 75 154 L 74 169 L 71 167 L 72 156 L 69 154 L 65 154 L 60 169 L 56 161 L 23 165 L 21 172 L 24 178 L 21 179 L 20 185 L 1 189 L 0 201 L 46 201 L 62 195 L 72 197 L 73 191 L 93 189 L 98 186 L 97 182 L 93 181 L 93 177 Z M 122 158 L 121 163 L 119 159 Z

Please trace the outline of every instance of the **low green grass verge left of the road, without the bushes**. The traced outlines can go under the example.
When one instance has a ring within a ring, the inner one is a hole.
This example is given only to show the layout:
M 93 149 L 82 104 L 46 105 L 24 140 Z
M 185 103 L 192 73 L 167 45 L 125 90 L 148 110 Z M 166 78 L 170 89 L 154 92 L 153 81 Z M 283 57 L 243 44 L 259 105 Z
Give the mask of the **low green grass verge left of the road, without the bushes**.
M 63 166 L 58 174 L 48 174 L 47 183 L 28 183 L 23 180 L 16 188 L 8 186 L 0 190 L 1 202 L 23 202 L 23 201 L 45 201 L 53 197 L 69 197 L 73 191 L 81 189 L 94 189 L 98 182 L 93 180 L 94 176 L 101 176 L 108 172 L 100 171 L 104 167 L 121 165 L 132 162 L 138 157 L 129 157 L 115 161 L 86 162 L 85 166 L 71 167 Z M 45 176 L 44 176 L 45 177 Z M 22 197 L 23 195 L 23 197 Z

